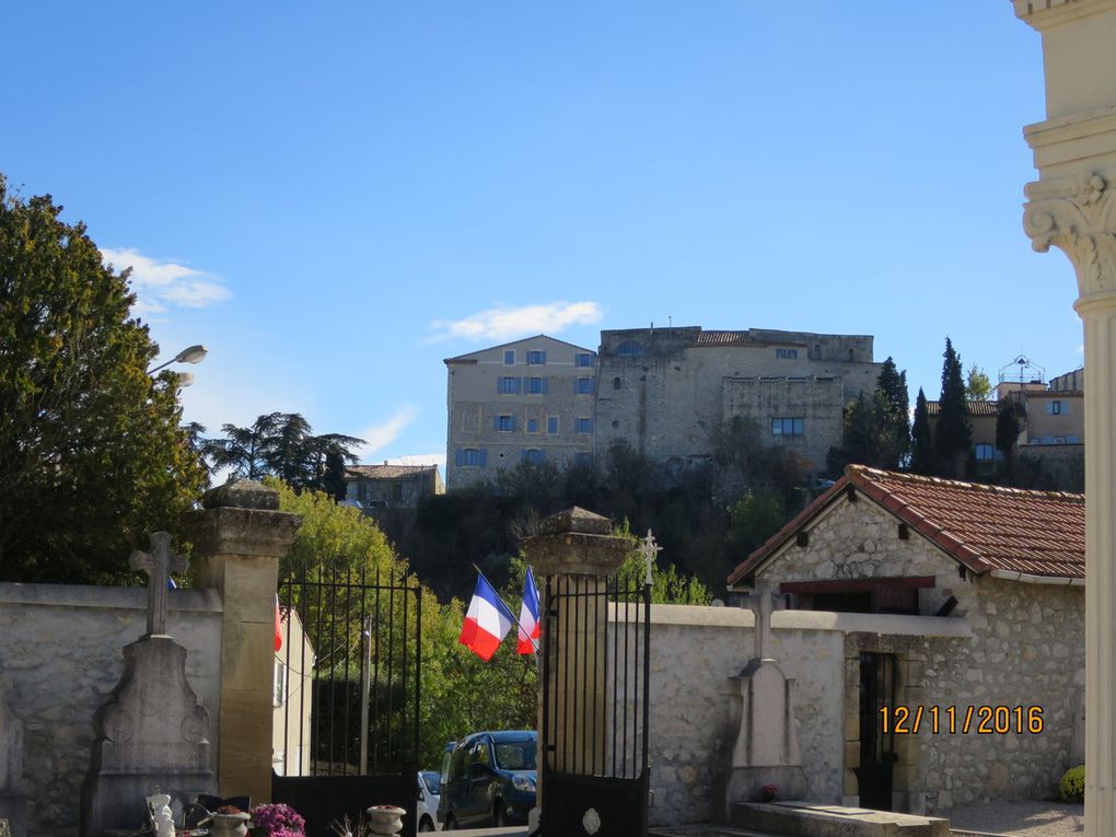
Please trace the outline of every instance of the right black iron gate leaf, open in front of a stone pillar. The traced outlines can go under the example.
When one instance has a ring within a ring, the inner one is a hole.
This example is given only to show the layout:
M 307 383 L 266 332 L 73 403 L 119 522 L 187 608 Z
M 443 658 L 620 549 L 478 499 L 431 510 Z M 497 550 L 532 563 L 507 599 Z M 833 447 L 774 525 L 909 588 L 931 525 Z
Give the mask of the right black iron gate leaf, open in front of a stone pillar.
M 651 586 L 548 578 L 542 837 L 644 837 Z

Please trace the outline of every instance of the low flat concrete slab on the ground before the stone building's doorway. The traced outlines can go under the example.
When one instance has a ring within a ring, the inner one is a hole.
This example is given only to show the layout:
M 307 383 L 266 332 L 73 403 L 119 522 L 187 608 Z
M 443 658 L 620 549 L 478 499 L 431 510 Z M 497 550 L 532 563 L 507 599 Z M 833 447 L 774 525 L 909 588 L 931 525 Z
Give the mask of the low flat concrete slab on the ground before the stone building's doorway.
M 937 817 L 816 802 L 738 802 L 732 826 L 781 837 L 950 837 Z

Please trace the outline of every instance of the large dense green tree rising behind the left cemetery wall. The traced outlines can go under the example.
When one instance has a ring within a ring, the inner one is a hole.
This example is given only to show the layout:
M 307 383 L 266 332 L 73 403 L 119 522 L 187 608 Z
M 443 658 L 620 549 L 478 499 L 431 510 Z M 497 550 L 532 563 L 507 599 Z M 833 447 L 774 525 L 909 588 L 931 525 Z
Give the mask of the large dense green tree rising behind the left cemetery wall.
M 129 315 L 128 271 L 61 210 L 0 175 L 0 577 L 119 581 L 205 472 L 177 376 L 146 374 L 158 347 Z

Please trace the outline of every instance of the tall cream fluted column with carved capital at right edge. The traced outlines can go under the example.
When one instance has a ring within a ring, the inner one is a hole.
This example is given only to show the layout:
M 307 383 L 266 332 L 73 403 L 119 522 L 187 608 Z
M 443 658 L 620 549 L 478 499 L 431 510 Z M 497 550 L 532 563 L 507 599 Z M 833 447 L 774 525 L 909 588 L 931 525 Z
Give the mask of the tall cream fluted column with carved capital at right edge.
M 1085 327 L 1086 757 L 1088 837 L 1116 834 L 1116 0 L 1014 0 L 1042 36 L 1047 121 L 1023 133 L 1033 247 L 1077 272 Z

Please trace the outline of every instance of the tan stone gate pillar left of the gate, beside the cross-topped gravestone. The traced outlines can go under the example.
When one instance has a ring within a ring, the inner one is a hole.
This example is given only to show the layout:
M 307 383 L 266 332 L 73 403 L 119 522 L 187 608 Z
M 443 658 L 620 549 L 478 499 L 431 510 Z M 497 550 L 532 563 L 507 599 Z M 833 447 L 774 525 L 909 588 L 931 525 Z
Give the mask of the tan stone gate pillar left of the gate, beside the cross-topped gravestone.
M 218 787 L 221 796 L 271 799 L 275 608 L 279 558 L 301 522 L 279 492 L 237 480 L 205 493 L 186 519 L 199 586 L 223 602 Z

